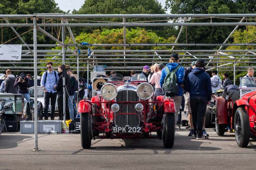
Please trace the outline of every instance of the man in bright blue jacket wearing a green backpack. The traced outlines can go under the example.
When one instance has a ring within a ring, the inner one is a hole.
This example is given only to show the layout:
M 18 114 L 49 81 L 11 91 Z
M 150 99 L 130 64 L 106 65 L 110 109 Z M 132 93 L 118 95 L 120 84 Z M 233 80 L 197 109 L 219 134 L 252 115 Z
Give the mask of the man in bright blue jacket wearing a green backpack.
M 171 55 L 170 63 L 166 64 L 166 66 L 169 68 L 169 71 L 173 71 L 177 66 L 179 66 L 179 55 L 177 53 L 174 53 Z M 181 107 L 181 100 L 182 100 L 182 95 L 183 95 L 183 90 L 181 87 L 183 87 L 183 77 L 184 77 L 184 68 L 179 67 L 178 70 L 175 72 L 176 77 L 177 77 L 177 84 L 179 86 L 179 93 L 176 94 L 176 96 L 171 97 L 174 102 L 175 102 L 175 107 L 176 107 L 176 113 L 175 113 L 175 123 L 177 123 L 178 120 L 178 114 L 179 114 L 179 109 Z M 162 75 L 160 78 L 160 86 L 161 88 L 163 87 L 164 84 L 164 79 L 167 76 L 166 68 L 163 68 L 162 70 Z

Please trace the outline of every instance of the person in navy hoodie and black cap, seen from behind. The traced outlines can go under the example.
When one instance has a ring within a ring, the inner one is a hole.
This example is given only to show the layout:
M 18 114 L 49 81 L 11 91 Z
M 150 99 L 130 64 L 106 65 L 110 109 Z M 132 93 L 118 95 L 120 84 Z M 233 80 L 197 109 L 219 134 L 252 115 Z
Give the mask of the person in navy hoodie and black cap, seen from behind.
M 211 78 L 204 70 L 204 60 L 196 60 L 195 66 L 186 81 L 186 90 L 190 94 L 193 126 L 196 132 L 194 137 L 196 136 L 196 139 L 208 139 L 208 136 L 203 135 L 203 124 L 206 105 L 212 96 Z

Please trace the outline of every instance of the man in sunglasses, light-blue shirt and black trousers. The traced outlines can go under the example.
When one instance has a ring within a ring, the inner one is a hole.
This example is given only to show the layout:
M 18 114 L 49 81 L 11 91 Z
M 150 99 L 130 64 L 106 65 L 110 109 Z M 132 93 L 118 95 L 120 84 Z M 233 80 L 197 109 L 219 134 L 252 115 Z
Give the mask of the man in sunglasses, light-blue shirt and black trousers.
M 54 87 L 57 86 L 59 79 L 58 73 L 53 70 L 52 62 L 46 63 L 47 71 L 42 74 L 41 87 L 44 89 L 44 120 L 48 120 L 48 108 L 51 99 L 51 120 L 54 120 L 55 103 L 57 93 Z

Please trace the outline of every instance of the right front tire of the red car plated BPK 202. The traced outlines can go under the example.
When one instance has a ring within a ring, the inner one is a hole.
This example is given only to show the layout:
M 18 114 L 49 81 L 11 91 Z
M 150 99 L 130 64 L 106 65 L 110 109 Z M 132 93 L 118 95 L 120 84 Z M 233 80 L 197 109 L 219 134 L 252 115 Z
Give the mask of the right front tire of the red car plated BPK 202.
M 174 144 L 174 136 L 175 136 L 175 114 L 174 113 L 166 113 L 165 118 L 165 128 L 164 128 L 164 147 L 172 148 Z

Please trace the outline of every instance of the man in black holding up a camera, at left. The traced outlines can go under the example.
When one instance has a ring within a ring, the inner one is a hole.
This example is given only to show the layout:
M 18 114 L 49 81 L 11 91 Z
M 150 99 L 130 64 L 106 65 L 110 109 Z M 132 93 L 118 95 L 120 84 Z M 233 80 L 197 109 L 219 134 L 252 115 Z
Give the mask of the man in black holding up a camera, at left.
M 19 77 L 16 78 L 13 87 L 18 87 L 18 94 L 23 94 L 25 99 L 29 102 L 29 79 L 26 77 L 25 73 L 21 73 Z

